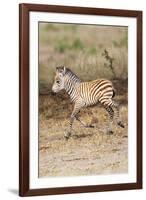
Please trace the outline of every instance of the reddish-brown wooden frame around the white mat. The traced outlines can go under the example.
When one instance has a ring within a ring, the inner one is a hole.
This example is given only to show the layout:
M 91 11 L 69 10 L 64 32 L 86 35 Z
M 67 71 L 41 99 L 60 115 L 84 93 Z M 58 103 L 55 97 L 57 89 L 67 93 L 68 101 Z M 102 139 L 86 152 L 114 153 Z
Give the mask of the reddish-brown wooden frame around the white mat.
M 137 21 L 137 149 L 136 149 L 136 182 L 68 186 L 52 188 L 30 188 L 30 123 L 29 123 L 29 96 L 30 96 L 30 63 L 29 63 L 29 17 L 30 12 L 51 12 L 66 14 L 84 14 L 99 16 L 116 16 L 135 18 Z M 19 195 L 55 195 L 67 193 L 85 193 L 113 190 L 129 190 L 142 188 L 142 11 L 114 10 L 104 8 L 70 7 L 56 5 L 20 4 L 19 5 Z

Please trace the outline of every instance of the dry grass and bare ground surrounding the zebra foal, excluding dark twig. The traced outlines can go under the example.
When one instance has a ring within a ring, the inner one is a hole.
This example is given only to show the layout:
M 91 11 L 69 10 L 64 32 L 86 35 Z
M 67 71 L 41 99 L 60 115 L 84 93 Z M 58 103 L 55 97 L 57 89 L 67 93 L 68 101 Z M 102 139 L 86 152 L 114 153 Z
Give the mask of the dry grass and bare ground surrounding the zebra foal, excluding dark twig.
M 114 80 L 102 56 L 114 58 Z M 82 80 L 113 79 L 125 128 L 113 125 L 105 134 L 108 114 L 101 106 L 81 110 L 81 119 L 95 128 L 73 125 L 66 141 L 73 105 L 64 92 L 53 96 L 55 68 L 66 65 Z M 39 25 L 39 177 L 126 173 L 128 170 L 127 28 L 106 26 Z M 47 95 L 41 95 L 47 93 Z

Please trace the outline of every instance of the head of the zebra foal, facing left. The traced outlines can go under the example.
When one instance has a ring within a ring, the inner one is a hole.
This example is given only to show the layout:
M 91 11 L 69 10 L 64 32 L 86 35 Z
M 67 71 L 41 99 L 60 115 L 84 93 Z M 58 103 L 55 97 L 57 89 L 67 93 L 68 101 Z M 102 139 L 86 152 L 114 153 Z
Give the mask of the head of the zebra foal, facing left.
M 64 89 L 64 75 L 66 73 L 66 68 L 64 66 L 56 67 L 55 80 L 52 86 L 52 91 L 58 93 L 60 90 Z

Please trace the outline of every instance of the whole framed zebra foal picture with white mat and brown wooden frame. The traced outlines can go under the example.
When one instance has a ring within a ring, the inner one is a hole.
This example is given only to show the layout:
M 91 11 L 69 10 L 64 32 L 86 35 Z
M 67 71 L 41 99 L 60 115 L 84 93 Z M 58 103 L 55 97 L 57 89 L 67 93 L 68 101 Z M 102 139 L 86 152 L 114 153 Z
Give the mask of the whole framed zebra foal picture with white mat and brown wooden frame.
M 20 4 L 20 196 L 142 188 L 142 11 Z

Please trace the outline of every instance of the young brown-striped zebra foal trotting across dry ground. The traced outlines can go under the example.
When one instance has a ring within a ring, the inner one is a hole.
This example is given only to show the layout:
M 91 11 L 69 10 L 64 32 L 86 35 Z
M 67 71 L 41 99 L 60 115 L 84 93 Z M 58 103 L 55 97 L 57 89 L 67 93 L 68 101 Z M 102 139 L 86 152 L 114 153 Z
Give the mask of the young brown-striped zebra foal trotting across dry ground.
M 111 127 L 114 117 L 113 108 L 115 109 L 117 125 L 124 128 L 123 123 L 119 119 L 118 104 L 112 100 L 115 91 L 109 80 L 97 79 L 90 82 L 81 82 L 81 80 L 70 69 L 64 66 L 59 66 L 56 68 L 52 91 L 58 93 L 63 89 L 65 89 L 71 100 L 74 102 L 74 109 L 69 120 L 69 129 L 65 133 L 66 138 L 69 138 L 71 135 L 74 119 L 78 120 L 84 127 L 93 127 L 92 125 L 88 125 L 81 121 L 78 117 L 78 113 L 82 107 L 95 105 L 98 102 L 101 103 L 109 113 L 107 133 L 113 133 Z

